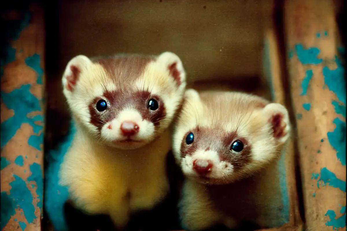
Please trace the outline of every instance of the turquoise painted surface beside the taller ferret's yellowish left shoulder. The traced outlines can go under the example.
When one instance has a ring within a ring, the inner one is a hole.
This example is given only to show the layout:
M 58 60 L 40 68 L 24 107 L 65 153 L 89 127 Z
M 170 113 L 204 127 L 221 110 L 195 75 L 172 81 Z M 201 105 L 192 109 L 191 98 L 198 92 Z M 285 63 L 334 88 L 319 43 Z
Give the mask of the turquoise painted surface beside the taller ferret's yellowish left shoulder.
M 45 211 L 56 231 L 67 230 L 63 209 L 68 198 L 68 188 L 59 185 L 59 168 L 75 132 L 76 128 L 71 123 L 68 134 L 58 148 L 46 152 L 49 164 L 45 170 Z

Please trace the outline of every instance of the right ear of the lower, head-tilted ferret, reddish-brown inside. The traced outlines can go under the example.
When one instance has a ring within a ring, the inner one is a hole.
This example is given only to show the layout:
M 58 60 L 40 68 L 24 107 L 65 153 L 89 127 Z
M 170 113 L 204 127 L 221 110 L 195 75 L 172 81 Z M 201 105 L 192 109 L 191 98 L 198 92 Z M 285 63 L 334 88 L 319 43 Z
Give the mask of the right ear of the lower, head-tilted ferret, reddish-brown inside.
M 269 118 L 274 139 L 279 143 L 285 143 L 290 136 L 290 122 L 287 108 L 278 103 L 270 103 L 263 110 L 267 118 Z

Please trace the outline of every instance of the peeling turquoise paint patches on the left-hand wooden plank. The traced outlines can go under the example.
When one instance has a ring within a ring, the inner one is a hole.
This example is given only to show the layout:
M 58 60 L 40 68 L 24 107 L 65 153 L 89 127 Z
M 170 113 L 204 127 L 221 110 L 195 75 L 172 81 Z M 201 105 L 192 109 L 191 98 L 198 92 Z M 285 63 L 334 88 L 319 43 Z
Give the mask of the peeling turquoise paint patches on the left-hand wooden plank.
M 6 21 L 5 27 L 7 30 L 4 30 L 6 38 L 6 54 L 5 58 L 1 59 L 1 78 L 3 78 L 5 65 L 15 61 L 16 59 L 16 50 L 15 48 L 11 47 L 11 41 L 18 39 L 22 30 L 29 25 L 30 17 L 30 12 L 25 12 L 22 20 Z M 40 68 L 40 56 L 34 54 L 33 56 L 28 57 L 25 61 L 29 67 L 36 71 L 37 83 L 42 83 L 43 70 Z M 29 91 L 30 88 L 31 85 L 27 84 L 22 85 L 18 89 L 14 89 L 11 92 L 0 92 L 3 103 L 8 109 L 12 109 L 14 111 L 14 116 L 1 123 L 1 150 L 4 146 L 6 146 L 8 141 L 12 139 L 23 123 L 31 125 L 35 133 L 29 137 L 28 144 L 37 150 L 41 150 L 41 145 L 43 144 L 43 117 L 28 116 L 29 113 L 41 112 L 41 99 L 38 99 L 31 94 Z M 37 121 L 41 122 L 40 125 L 35 124 Z M 27 159 L 27 156 L 25 156 L 25 159 Z M 12 164 L 23 167 L 25 164 L 25 159 L 23 156 L 18 156 L 15 158 L 15 161 L 11 163 L 5 157 L 1 157 L 1 170 L 11 166 Z M 29 166 L 29 169 L 30 175 L 27 180 L 23 180 L 20 176 L 14 173 L 14 180 L 9 183 L 11 188 L 10 191 L 1 192 L 1 230 L 7 225 L 11 219 L 11 216 L 16 213 L 15 209 L 22 209 L 27 222 L 30 224 L 33 223 L 33 221 L 37 218 L 34 214 L 35 206 L 42 208 L 42 166 L 37 163 L 33 163 Z M 37 204 L 33 202 L 35 197 L 28 188 L 30 186 L 32 188 L 36 187 L 36 194 L 38 195 L 37 198 L 40 200 L 37 202 Z M 27 225 L 24 222 L 19 222 L 19 226 L 24 230 Z

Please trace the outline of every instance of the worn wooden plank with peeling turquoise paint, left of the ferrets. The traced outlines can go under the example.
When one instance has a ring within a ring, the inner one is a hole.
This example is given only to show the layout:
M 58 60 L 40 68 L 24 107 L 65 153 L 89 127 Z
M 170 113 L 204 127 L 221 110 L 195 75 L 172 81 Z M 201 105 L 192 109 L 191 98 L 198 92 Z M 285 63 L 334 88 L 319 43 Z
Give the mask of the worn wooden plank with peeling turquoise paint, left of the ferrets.
M 1 58 L 1 230 L 41 230 L 43 10 L 7 11 Z

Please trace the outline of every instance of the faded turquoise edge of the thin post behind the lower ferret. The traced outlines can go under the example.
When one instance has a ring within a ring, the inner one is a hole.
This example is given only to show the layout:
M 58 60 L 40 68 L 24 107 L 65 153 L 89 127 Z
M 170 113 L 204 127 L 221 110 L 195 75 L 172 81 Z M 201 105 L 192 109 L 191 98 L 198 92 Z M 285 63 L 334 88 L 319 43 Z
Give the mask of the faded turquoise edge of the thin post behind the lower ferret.
M 291 54 L 289 54 L 290 56 Z M 263 69 L 266 79 L 268 80 L 270 90 L 271 90 L 271 97 L 272 101 L 276 101 L 276 96 L 274 92 L 274 87 L 272 84 L 272 79 L 274 78 L 271 75 L 271 63 L 270 63 L 270 52 L 269 52 L 269 41 L 266 39 L 265 46 L 263 50 Z M 288 189 L 287 189 L 287 174 L 286 174 L 286 152 L 285 150 L 281 153 L 281 158 L 278 162 L 278 176 L 279 176 L 279 187 L 282 194 L 282 203 L 283 207 L 279 211 L 281 213 L 281 219 L 280 220 L 274 220 L 271 224 L 269 224 L 270 227 L 278 227 L 281 225 L 284 225 L 289 222 L 289 197 L 288 197 Z M 276 183 L 274 183 L 276 184 Z M 277 208 L 278 209 L 278 208 Z

